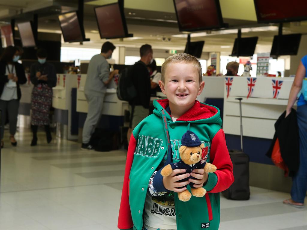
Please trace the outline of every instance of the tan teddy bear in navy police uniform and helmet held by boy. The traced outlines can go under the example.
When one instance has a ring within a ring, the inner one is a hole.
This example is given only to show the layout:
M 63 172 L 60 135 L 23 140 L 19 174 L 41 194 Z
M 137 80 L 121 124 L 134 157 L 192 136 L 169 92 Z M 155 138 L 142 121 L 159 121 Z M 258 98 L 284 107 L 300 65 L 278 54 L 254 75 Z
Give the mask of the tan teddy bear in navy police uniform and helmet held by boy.
M 204 147 L 204 144 L 200 142 L 196 134 L 188 130 L 181 139 L 181 147 L 179 148 L 181 160 L 177 163 L 171 163 L 163 167 L 161 170 L 161 175 L 163 177 L 169 176 L 175 169 L 186 169 L 185 173 L 191 173 L 193 169 L 201 168 L 203 168 L 207 173 L 215 172 L 216 166 L 206 163 L 208 152 L 205 152 Z M 187 181 L 189 178 L 195 179 L 194 177 L 190 176 L 178 182 Z M 192 195 L 195 197 L 203 197 L 207 192 L 203 187 L 194 188 L 194 183 L 192 182 L 189 183 L 189 186 L 191 187 L 192 194 L 188 190 L 180 192 L 178 193 L 179 200 L 188 201 Z

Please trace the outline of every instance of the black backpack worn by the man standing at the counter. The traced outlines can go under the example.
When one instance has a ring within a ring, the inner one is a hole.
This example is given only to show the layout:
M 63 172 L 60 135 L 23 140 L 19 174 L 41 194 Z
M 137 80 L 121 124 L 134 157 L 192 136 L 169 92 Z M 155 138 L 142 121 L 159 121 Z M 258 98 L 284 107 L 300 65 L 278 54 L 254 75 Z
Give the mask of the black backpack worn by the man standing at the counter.
M 133 66 L 124 68 L 119 74 L 116 89 L 116 94 L 119 100 L 129 102 L 136 97 L 137 92 L 132 81 L 132 76 Z

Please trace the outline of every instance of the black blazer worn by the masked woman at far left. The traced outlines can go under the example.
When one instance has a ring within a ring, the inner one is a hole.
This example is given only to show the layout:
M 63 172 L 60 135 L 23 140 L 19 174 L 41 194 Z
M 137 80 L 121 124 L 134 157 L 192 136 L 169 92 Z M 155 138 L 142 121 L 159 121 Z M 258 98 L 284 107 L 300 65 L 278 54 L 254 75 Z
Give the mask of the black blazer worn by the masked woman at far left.
M 0 96 L 2 95 L 4 85 L 6 82 L 9 81 L 6 75 L 6 62 L 0 62 Z M 18 62 L 14 62 L 15 65 L 15 71 L 16 76 L 18 78 L 17 81 L 17 99 L 20 100 L 21 98 L 21 91 L 20 91 L 20 84 L 25 84 L 27 82 L 27 78 L 25 77 L 25 69 L 23 68 L 23 65 L 21 65 Z

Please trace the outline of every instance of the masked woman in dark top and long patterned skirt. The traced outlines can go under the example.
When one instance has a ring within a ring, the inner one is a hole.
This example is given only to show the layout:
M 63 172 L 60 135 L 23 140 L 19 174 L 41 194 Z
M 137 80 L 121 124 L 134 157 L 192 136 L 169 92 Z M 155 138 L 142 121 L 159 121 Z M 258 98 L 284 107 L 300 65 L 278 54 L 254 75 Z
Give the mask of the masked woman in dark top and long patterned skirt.
M 46 62 L 47 51 L 41 48 L 36 55 L 38 62 L 30 68 L 30 78 L 34 85 L 31 95 L 31 146 L 37 145 L 38 126 L 45 126 L 47 143 L 52 140 L 49 111 L 52 104 L 52 87 L 56 86 L 56 70 L 52 64 Z

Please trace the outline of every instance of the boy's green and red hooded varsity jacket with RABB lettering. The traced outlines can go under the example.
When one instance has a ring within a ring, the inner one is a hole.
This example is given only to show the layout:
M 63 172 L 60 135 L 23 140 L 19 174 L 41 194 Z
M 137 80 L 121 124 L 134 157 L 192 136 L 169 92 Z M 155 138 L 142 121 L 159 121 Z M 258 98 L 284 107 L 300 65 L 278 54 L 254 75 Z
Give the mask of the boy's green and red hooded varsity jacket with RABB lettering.
M 179 201 L 175 193 L 177 230 L 217 230 L 220 224 L 220 192 L 234 181 L 232 163 L 227 150 L 225 135 L 221 129 L 220 110 L 212 105 L 195 101 L 185 114 L 172 121 L 162 111 L 168 106 L 168 99 L 153 102 L 153 114 L 141 121 L 133 130 L 128 147 L 122 198 L 119 209 L 119 229 L 142 230 L 143 212 L 150 176 L 163 160 L 167 148 L 164 124 L 172 147 L 173 162 L 178 162 L 181 137 L 187 131 L 194 132 L 208 151 L 207 162 L 217 167 L 209 173 L 204 185 L 204 197 L 191 197 L 187 202 Z M 164 112 L 163 111 L 163 112 Z M 190 187 L 188 186 L 190 190 Z

